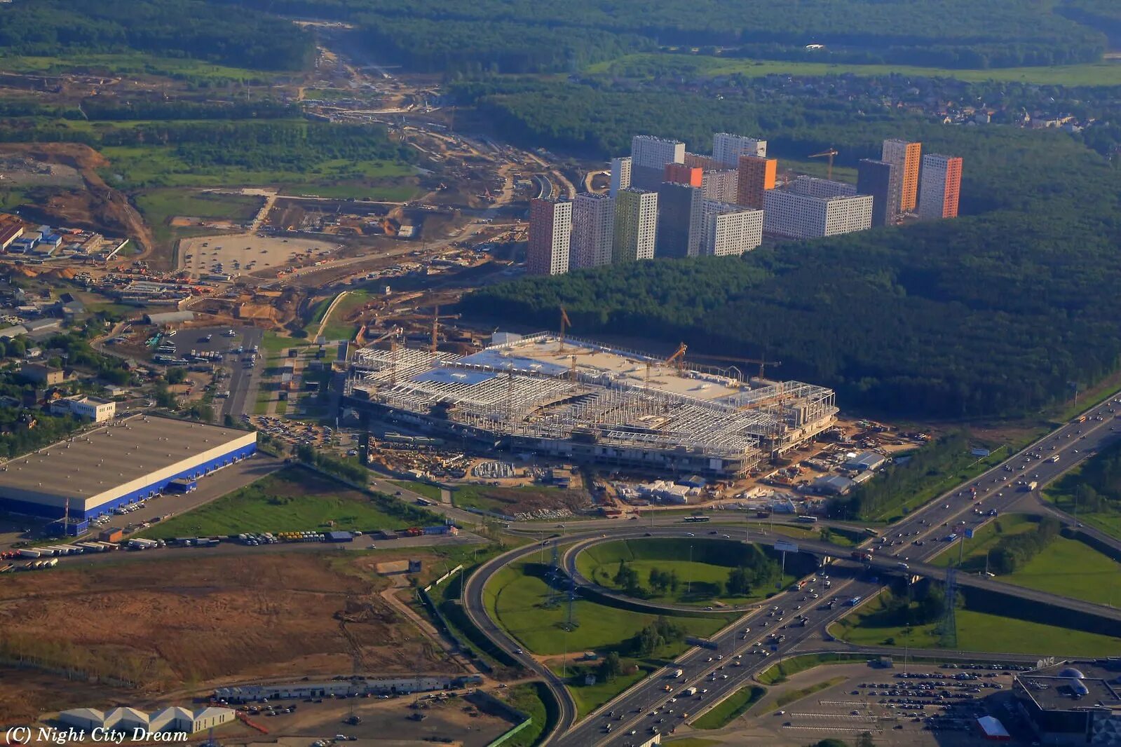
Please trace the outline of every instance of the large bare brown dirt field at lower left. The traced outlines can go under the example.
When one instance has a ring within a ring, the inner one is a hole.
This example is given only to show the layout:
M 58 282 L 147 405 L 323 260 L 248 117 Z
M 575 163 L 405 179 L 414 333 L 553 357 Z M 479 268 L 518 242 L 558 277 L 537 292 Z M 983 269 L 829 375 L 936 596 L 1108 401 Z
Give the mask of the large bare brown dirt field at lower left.
M 457 672 L 379 596 L 386 580 L 370 563 L 351 553 L 200 554 L 12 575 L 0 585 L 0 660 L 76 670 L 127 685 L 133 701 L 349 675 L 355 660 L 376 675 Z M 4 708 L 54 701 L 0 699 L 0 723 Z

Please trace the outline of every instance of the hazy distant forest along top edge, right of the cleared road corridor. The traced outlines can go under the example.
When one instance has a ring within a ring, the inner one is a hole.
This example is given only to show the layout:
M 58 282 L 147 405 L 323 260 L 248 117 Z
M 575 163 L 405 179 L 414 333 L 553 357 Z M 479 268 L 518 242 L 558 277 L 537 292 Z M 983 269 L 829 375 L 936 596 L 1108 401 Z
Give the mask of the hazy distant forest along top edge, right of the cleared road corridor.
M 815 43 L 828 45 L 828 55 L 949 67 L 1090 62 L 1105 49 L 1092 25 L 1035 0 L 799 0 L 794 8 L 769 0 L 214 1 L 348 20 L 371 52 L 448 72 L 526 73 L 546 64 L 567 72 L 574 62 L 605 59 L 608 49 L 652 45 L 786 57 Z

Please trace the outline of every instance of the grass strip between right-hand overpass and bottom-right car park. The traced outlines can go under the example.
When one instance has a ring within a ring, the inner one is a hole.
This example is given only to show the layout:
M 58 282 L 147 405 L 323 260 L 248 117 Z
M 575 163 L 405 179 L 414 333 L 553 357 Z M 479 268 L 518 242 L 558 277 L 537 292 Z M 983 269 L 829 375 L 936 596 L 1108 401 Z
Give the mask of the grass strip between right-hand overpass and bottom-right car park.
M 1010 654 L 1041 654 L 1065 656 L 1117 656 L 1121 654 L 1121 638 L 1084 633 L 1055 625 L 1030 623 L 1013 617 L 958 609 L 957 650 Z M 911 648 L 937 648 L 938 634 L 935 624 L 916 625 L 910 636 L 897 619 L 884 620 L 877 603 L 869 603 L 867 609 L 843 617 L 830 627 L 830 632 L 856 645 L 905 644 Z M 893 644 L 887 643 L 893 639 Z

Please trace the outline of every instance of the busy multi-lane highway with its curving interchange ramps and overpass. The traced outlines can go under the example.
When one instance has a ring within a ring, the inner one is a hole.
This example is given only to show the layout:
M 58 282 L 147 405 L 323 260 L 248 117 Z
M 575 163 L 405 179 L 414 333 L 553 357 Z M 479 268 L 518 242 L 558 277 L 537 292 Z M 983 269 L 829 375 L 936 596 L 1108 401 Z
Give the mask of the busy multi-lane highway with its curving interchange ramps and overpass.
M 979 529 L 1026 497 L 1038 497 L 1031 495 L 1034 491 L 1029 489 L 1030 483 L 1036 483 L 1035 489 L 1038 489 L 1115 438 L 1121 432 L 1119 431 L 1121 420 L 1118 420 L 1121 415 L 1114 410 L 1121 410 L 1121 405 L 1112 400 L 1092 408 L 1084 418 L 1064 424 L 980 477 L 960 485 L 927 503 L 924 507 L 911 512 L 904 520 L 883 530 L 879 538 L 870 538 L 865 547 L 876 548 L 876 551 L 872 555 L 873 560 L 868 566 L 881 569 L 877 572 L 890 570 L 902 572 L 900 563 L 907 563 L 908 573 L 941 576 L 945 570 L 930 566 L 927 561 L 946 550 L 947 547 L 952 548 L 955 542 L 967 541 L 963 539 L 964 530 Z M 975 495 L 973 488 L 976 491 Z M 1053 513 L 1055 512 L 1053 511 Z M 1066 524 L 1076 523 L 1060 512 L 1058 515 Z M 657 520 L 657 525 L 654 525 L 651 521 L 650 526 L 619 524 L 618 522 L 614 525 L 600 523 L 594 526 L 589 525 L 585 531 L 569 534 L 565 541 L 603 541 L 604 530 L 610 532 L 608 539 L 646 535 L 679 538 L 698 532 L 701 533 L 698 539 L 704 539 L 707 535 L 703 532 L 713 531 L 686 524 L 667 526 L 667 523 L 671 522 L 674 520 L 660 519 Z M 1100 534 L 1081 525 L 1077 529 L 1095 536 Z M 729 526 L 723 524 L 716 531 L 719 535 L 743 540 L 750 536 L 751 529 L 750 525 Z M 951 534 L 956 534 L 957 539 L 947 541 L 946 538 Z M 757 531 L 754 539 L 758 538 Z M 1103 535 L 1103 540 L 1113 547 L 1121 548 L 1121 543 L 1111 538 Z M 823 542 L 796 542 L 807 551 L 831 554 L 835 558 L 846 558 L 850 552 L 850 549 Z M 703 700 L 700 702 L 695 697 L 669 702 L 670 698 L 677 697 L 675 693 L 683 688 L 683 681 L 677 679 L 670 681 L 668 671 L 663 671 L 639 682 L 580 723 L 575 723 L 575 703 L 559 679 L 547 666 L 526 654 L 518 642 L 490 618 L 485 608 L 484 587 L 493 573 L 503 566 L 538 551 L 539 548 L 536 544 L 528 545 L 485 563 L 469 580 L 464 591 L 464 603 L 475 625 L 497 645 L 541 675 L 554 692 L 559 703 L 560 717 L 550 740 L 562 745 L 641 744 L 654 736 L 651 728 L 665 734 L 685 721 L 687 718 L 685 713 L 691 711 L 695 713 L 698 707 L 703 708 L 706 702 L 714 702 L 743 687 L 748 679 L 775 661 L 773 657 L 781 657 L 796 648 L 805 651 L 804 644 L 807 641 L 821 637 L 832 622 L 849 611 L 849 607 L 841 601 L 832 608 L 825 608 L 825 605 L 815 607 L 813 601 L 808 606 L 799 605 L 803 592 L 782 592 L 768 600 L 769 606 L 782 608 L 788 616 L 793 615 L 795 606 L 800 606 L 803 608 L 798 614 L 805 615 L 807 623 L 802 627 L 784 629 L 781 634 L 786 637 L 781 642 L 754 646 L 756 642 L 766 639 L 776 629 L 773 618 L 768 617 L 768 613 L 772 610 L 763 606 L 758 610 L 749 611 L 720 634 L 713 636 L 711 641 L 715 648 L 692 648 L 677 660 L 674 669 L 682 669 L 683 678 L 687 679 L 689 684 L 696 684 L 696 687 L 707 690 L 703 693 Z M 575 553 L 567 553 L 566 564 L 571 572 L 575 571 L 574 563 Z M 822 589 L 818 589 L 822 600 L 833 597 L 837 597 L 839 600 L 854 597 L 868 598 L 882 588 L 882 585 L 871 577 L 870 571 L 863 564 L 847 560 L 824 567 L 821 572 L 830 573 L 833 577 L 827 597 L 821 594 Z M 1035 598 L 1072 609 L 1084 608 L 1092 614 L 1121 619 L 1121 614 L 1110 607 L 1023 589 L 992 579 L 960 577 L 958 581 L 982 588 L 991 587 L 1006 594 L 1029 599 Z M 744 631 L 748 628 L 750 632 L 745 633 Z M 765 641 L 765 643 L 767 642 Z M 770 655 L 752 653 L 759 648 L 768 648 Z M 735 662 L 739 664 L 736 665 Z M 667 691 L 667 685 L 671 690 Z M 659 713 L 651 716 L 650 711 L 652 710 L 659 710 Z M 670 710 L 673 712 L 669 712 Z M 608 711 L 612 712 L 610 731 L 605 729 L 608 719 L 603 716 Z M 663 720 L 659 722 L 658 719 Z

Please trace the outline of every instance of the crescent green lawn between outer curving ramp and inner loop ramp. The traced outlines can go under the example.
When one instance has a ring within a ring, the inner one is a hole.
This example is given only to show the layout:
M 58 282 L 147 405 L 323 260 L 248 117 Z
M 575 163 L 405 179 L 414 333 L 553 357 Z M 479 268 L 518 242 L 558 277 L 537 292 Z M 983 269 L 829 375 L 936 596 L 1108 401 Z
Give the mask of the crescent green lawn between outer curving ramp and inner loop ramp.
M 657 615 L 577 599 L 573 606 L 577 627 L 566 633 L 562 625 L 567 620 L 568 605 L 546 607 L 550 591 L 539 576 L 546 567 L 536 560 L 502 568 L 491 578 L 484 594 L 491 616 L 528 651 L 550 655 L 563 654 L 565 651 L 618 647 L 657 619 Z M 687 635 L 707 636 L 735 617 L 736 615 L 673 616 L 669 619 Z M 686 647 L 687 644 L 682 641 L 658 653 L 673 657 Z

